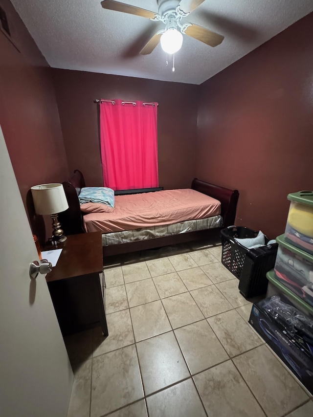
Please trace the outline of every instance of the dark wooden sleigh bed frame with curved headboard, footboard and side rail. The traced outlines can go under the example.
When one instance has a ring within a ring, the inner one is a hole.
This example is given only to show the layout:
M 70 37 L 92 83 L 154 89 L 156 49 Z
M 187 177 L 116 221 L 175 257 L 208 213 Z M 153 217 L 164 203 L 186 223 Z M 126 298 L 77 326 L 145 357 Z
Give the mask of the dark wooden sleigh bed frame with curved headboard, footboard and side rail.
M 86 233 L 78 199 L 81 188 L 85 186 L 84 176 L 78 170 L 74 171 L 74 174 L 68 181 L 63 182 L 69 208 L 65 212 L 59 214 L 59 220 L 66 235 Z M 228 188 L 219 187 L 217 185 L 201 181 L 198 178 L 194 178 L 191 188 L 221 201 L 221 215 L 224 219 L 223 227 L 231 226 L 235 223 L 237 201 L 239 197 L 238 190 L 229 190 Z M 151 190 L 145 189 L 140 192 L 147 191 Z M 103 246 L 103 257 L 204 239 L 209 236 L 211 231 L 216 229 L 217 228 L 195 230 L 192 232 L 147 239 L 144 241 Z

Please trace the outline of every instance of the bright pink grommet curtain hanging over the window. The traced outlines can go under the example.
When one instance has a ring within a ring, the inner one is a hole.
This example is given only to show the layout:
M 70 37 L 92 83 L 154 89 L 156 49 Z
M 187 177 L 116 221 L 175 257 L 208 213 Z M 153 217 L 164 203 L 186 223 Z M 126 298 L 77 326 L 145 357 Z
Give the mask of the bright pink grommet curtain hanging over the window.
M 100 104 L 104 185 L 113 190 L 157 187 L 157 103 L 114 101 Z

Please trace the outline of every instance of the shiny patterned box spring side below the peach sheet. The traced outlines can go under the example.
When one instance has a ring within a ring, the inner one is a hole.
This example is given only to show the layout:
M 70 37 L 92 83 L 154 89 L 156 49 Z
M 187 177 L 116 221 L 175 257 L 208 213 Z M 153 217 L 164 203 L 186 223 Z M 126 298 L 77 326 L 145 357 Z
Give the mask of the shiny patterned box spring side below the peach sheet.
M 143 241 L 164 236 L 179 235 L 180 233 L 188 233 L 195 230 L 214 229 L 215 227 L 222 226 L 222 216 L 218 215 L 208 217 L 207 219 L 187 220 L 166 226 L 151 226 L 142 229 L 126 230 L 124 232 L 106 233 L 102 235 L 102 246 Z

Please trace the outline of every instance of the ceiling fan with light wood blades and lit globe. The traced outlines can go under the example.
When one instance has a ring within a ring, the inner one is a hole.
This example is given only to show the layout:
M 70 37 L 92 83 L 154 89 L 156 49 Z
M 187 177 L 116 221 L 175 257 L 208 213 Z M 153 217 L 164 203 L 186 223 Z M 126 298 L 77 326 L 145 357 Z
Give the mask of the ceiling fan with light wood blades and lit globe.
M 183 34 L 197 39 L 209 46 L 217 46 L 222 43 L 224 36 L 194 23 L 181 22 L 183 18 L 187 17 L 193 10 L 200 6 L 203 1 L 204 0 L 157 0 L 158 13 L 115 0 L 103 0 L 101 1 L 101 5 L 104 9 L 141 16 L 146 19 L 151 19 L 154 22 L 163 22 L 165 28 L 153 35 L 141 49 L 140 54 L 151 54 L 159 43 L 166 53 L 174 54 L 181 48 Z

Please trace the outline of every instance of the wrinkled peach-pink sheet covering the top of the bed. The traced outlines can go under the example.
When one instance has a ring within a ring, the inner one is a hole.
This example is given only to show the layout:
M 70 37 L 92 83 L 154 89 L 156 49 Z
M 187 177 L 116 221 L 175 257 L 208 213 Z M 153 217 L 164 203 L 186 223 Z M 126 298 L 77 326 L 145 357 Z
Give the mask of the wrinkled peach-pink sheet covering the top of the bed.
M 112 213 L 84 216 L 87 232 L 111 233 L 205 219 L 221 213 L 221 203 L 191 189 L 115 196 Z

